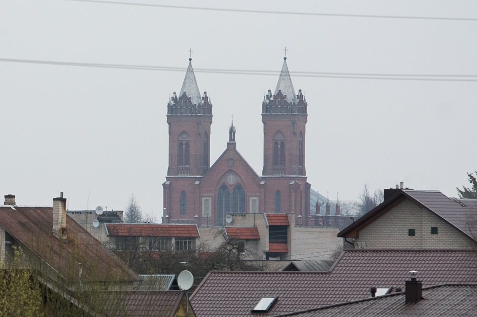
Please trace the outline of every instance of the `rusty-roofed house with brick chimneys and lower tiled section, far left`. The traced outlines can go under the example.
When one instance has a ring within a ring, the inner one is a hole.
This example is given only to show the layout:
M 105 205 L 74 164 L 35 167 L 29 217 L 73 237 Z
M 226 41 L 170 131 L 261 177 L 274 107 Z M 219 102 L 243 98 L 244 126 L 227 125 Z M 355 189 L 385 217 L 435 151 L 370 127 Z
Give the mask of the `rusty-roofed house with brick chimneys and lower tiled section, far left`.
M 41 285 L 43 305 L 53 309 L 49 315 L 64 308 L 60 315 L 195 316 L 184 292 L 159 291 L 171 288 L 174 275 L 136 274 L 66 214 L 62 193 L 53 207 L 20 206 L 14 195 L 5 196 L 0 205 L 4 274 L 18 248 L 25 256 L 22 263 L 37 278 L 32 281 Z M 83 290 L 88 296 L 82 296 Z

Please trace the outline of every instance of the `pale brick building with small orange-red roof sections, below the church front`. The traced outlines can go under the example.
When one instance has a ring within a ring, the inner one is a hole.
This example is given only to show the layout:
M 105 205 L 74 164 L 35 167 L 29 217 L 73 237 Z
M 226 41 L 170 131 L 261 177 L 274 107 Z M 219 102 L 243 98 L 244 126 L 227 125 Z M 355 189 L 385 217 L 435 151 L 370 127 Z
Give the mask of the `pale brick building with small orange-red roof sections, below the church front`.
M 301 220 L 299 220 L 301 222 Z M 293 213 L 231 214 L 224 227 L 198 227 L 206 250 L 238 244 L 246 260 L 328 260 L 343 250 L 337 227 L 297 225 Z

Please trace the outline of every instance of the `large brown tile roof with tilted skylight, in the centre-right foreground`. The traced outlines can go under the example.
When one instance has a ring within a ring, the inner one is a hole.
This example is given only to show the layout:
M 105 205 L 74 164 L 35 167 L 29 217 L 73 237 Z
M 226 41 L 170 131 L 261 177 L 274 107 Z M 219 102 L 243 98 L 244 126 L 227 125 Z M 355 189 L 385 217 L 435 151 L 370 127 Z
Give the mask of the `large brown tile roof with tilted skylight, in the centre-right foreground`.
M 477 252 L 347 250 L 331 272 L 210 272 L 192 295 L 197 316 L 250 316 L 262 297 L 276 315 L 369 297 L 371 287 L 401 287 L 408 271 L 423 285 L 476 283 Z M 226 303 L 226 304 L 224 304 Z

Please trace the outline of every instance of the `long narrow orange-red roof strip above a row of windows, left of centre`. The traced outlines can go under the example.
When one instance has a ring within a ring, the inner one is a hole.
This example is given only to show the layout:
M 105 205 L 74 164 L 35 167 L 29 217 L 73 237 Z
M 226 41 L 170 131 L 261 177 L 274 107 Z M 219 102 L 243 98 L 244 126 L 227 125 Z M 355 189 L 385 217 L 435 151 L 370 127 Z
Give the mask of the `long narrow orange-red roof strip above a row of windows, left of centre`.
M 195 224 L 107 223 L 109 235 L 199 237 Z

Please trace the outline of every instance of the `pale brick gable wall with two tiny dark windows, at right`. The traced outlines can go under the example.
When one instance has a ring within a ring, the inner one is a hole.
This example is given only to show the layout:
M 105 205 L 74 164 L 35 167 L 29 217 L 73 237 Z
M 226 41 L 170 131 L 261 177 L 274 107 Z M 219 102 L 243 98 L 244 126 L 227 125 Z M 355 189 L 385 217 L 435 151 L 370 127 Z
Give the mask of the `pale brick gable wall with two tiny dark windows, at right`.
M 431 234 L 438 227 L 438 234 Z M 408 229 L 416 230 L 408 236 Z M 367 249 L 473 249 L 476 245 L 459 230 L 425 208 L 403 200 L 362 228 L 355 248 Z

